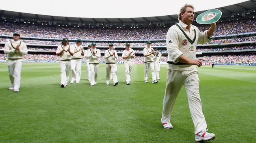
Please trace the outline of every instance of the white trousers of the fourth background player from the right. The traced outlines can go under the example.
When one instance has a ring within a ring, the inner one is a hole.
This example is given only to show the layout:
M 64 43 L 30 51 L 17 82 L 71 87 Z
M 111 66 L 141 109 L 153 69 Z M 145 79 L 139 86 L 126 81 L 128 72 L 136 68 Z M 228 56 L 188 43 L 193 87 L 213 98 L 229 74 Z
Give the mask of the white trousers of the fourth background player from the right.
M 112 75 L 114 84 L 118 82 L 116 72 L 116 64 L 106 64 L 106 78 L 108 83 L 110 82 L 110 75 Z

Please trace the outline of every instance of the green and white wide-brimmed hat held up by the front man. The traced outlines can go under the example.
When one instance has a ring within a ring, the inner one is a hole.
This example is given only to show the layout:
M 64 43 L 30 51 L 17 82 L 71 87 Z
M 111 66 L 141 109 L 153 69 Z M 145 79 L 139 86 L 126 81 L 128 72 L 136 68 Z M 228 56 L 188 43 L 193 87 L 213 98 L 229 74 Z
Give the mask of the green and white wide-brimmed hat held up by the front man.
M 219 9 L 209 9 L 197 16 L 196 22 L 198 24 L 212 24 L 217 22 L 222 15 Z

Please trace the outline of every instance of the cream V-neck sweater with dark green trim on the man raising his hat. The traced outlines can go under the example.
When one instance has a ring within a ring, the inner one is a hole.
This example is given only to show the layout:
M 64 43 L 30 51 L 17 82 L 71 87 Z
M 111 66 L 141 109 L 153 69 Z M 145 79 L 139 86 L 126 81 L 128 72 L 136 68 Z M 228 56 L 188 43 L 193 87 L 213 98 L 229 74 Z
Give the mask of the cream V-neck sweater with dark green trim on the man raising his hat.
M 189 59 L 195 59 L 197 43 L 204 44 L 213 39 L 208 36 L 207 30 L 202 33 L 192 24 L 190 30 L 187 30 L 187 24 L 181 21 L 179 21 L 178 25 L 180 28 L 177 25 L 172 25 L 166 34 L 168 61 L 174 63 L 179 62 L 181 55 Z

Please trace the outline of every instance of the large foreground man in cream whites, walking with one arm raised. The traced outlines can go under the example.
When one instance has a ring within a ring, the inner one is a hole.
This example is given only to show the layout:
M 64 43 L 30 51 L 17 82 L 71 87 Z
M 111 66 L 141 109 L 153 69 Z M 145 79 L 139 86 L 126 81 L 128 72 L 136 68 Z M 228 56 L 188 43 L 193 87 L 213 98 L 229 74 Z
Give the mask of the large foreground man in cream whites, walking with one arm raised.
M 199 78 L 196 66 L 202 65 L 202 58 L 196 59 L 196 44 L 211 41 L 216 23 L 203 33 L 192 25 L 194 20 L 194 7 L 184 5 L 179 13 L 179 23 L 172 25 L 166 35 L 168 51 L 167 81 L 163 100 L 163 115 L 161 122 L 164 128 L 172 129 L 170 123 L 174 102 L 184 85 L 187 92 L 189 109 L 194 123 L 196 141 L 215 138 L 215 134 L 206 132 L 206 120 L 202 112 L 202 102 L 199 94 Z

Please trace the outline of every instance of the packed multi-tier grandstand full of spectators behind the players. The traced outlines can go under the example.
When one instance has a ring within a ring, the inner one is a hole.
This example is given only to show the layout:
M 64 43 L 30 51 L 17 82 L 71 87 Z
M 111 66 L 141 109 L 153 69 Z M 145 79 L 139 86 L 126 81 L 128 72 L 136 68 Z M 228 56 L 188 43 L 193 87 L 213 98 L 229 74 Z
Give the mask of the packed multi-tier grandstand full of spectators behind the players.
M 155 27 L 71 27 L 67 25 L 40 25 L 32 22 L 16 22 L 0 20 L 0 61 L 5 61 L 4 44 L 11 40 L 13 33 L 21 34 L 21 39 L 28 46 L 28 54 L 24 56 L 26 62 L 58 62 L 56 48 L 61 39 L 67 37 L 70 44 L 80 38 L 82 45 L 87 49 L 88 44 L 96 42 L 101 50 L 100 62 L 105 62 L 104 51 L 108 43 L 114 43 L 118 52 L 118 63 L 123 63 L 121 52 L 125 49 L 125 43 L 131 43 L 131 48 L 136 52 L 135 63 L 143 63 L 143 48 L 146 41 L 152 42 L 151 46 L 163 53 L 161 62 L 167 60 L 166 33 L 170 26 Z M 195 23 L 194 23 L 195 24 Z M 201 31 L 209 28 L 209 25 L 195 24 Z M 213 38 L 209 43 L 197 46 L 197 57 L 203 57 L 206 61 L 222 63 L 245 63 L 243 65 L 256 65 L 256 18 L 247 16 L 223 20 L 217 23 Z M 82 59 L 85 62 L 85 59 Z M 241 65 L 241 64 L 240 64 Z

